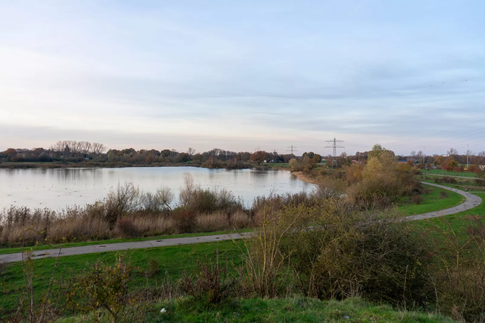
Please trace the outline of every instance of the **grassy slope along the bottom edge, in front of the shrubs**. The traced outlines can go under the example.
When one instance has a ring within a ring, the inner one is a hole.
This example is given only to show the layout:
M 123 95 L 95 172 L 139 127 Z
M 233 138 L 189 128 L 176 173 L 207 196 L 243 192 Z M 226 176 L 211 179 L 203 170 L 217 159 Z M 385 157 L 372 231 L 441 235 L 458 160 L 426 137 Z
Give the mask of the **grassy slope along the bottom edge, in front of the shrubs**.
M 162 308 L 168 309 L 167 312 L 161 314 Z M 205 306 L 190 297 L 183 297 L 152 305 L 145 313 L 148 322 L 453 322 L 434 314 L 372 305 L 359 298 L 340 302 L 303 297 L 251 298 Z M 61 322 L 85 322 L 95 318 L 91 314 Z

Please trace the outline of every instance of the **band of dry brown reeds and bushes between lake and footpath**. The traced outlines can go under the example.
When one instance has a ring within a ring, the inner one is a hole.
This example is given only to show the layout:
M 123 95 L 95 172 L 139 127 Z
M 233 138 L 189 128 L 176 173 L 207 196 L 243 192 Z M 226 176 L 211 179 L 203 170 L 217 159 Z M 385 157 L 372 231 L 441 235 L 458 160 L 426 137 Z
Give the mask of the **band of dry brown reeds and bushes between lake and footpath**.
M 188 176 L 174 207 L 167 187 L 145 192 L 133 183 L 118 184 L 105 198 L 61 211 L 10 207 L 0 211 L 0 245 L 97 241 L 163 234 L 211 232 L 254 227 L 266 205 L 308 203 L 311 194 L 271 194 L 246 208 L 231 192 L 202 189 Z

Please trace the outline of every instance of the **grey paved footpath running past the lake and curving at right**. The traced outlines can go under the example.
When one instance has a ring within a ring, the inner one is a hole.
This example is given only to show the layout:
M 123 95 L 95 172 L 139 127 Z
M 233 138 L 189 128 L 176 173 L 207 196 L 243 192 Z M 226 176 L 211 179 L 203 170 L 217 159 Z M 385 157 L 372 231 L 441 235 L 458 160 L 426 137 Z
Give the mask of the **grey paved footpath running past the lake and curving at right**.
M 404 220 L 406 221 L 414 221 L 414 220 L 422 220 L 422 219 L 430 219 L 438 216 L 444 216 L 453 214 L 456 212 L 460 212 L 463 210 L 469 210 L 476 206 L 479 206 L 482 203 L 482 199 L 477 195 L 460 191 L 451 187 L 426 183 L 422 182 L 423 184 L 433 185 L 436 187 L 444 188 L 455 193 L 461 194 L 466 197 L 466 201 L 457 205 L 453 208 L 439 210 L 435 212 L 423 213 L 418 215 L 411 215 L 406 216 Z M 128 249 L 143 249 L 143 248 L 152 248 L 152 247 L 163 247 L 169 245 L 178 245 L 178 244 L 191 244 L 191 243 L 199 243 L 199 242 L 214 242 L 214 241 L 223 241 L 223 240 L 231 240 L 231 239 L 241 239 L 244 236 L 250 235 L 251 232 L 243 232 L 242 234 L 234 233 L 234 234 L 216 234 L 210 236 L 199 236 L 199 237 L 187 237 L 187 238 L 172 238 L 172 239 L 165 239 L 165 240 L 151 240 L 151 241 L 137 241 L 137 242 L 119 242 L 119 243 L 108 243 L 108 244 L 98 244 L 98 245 L 87 245 L 82 247 L 70 247 L 64 248 L 61 250 L 60 256 L 72 256 L 72 255 L 82 255 L 82 254 L 91 254 L 96 252 L 104 252 L 104 251 L 117 251 L 117 250 L 128 250 Z M 39 250 L 33 252 L 33 259 L 38 258 L 45 258 L 45 257 L 57 257 L 59 255 L 59 249 L 49 249 L 49 250 Z M 5 254 L 0 255 L 0 262 L 14 262 L 22 260 L 22 253 L 18 252 L 15 254 Z

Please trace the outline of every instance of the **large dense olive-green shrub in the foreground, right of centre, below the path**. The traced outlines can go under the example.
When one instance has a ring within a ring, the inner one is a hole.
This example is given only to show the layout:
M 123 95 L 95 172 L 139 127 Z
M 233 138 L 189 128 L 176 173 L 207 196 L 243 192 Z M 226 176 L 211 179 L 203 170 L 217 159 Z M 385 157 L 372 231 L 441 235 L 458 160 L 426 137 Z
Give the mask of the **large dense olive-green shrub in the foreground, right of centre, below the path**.
M 427 243 L 397 213 L 356 212 L 327 201 L 314 210 L 311 228 L 289 230 L 283 250 L 308 296 L 362 295 L 393 304 L 424 304 Z

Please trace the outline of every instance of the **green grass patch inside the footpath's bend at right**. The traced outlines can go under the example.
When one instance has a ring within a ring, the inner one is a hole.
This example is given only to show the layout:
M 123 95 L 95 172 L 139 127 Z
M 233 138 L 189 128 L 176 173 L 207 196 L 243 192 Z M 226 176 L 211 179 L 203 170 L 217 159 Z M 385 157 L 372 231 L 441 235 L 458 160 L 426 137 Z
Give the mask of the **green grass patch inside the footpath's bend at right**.
M 403 215 L 415 215 L 433 211 L 439 211 L 454 207 L 465 201 L 465 196 L 458 193 L 442 189 L 432 185 L 424 185 L 424 188 L 430 189 L 430 194 L 421 194 L 423 201 L 416 205 L 409 201 L 409 197 L 401 197 L 398 202 L 398 210 L 403 212 Z M 448 197 L 440 197 L 440 192 L 446 192 Z

